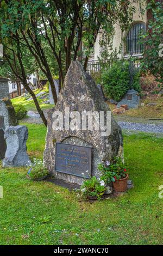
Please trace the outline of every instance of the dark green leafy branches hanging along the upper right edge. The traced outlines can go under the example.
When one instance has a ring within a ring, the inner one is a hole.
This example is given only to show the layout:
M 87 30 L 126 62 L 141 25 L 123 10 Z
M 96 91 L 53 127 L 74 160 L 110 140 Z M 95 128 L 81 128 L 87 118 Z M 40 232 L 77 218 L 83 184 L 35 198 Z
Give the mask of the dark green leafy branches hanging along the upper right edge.
M 144 57 L 142 59 L 143 71 L 150 72 L 159 82 L 159 87 L 163 83 L 163 5 L 152 0 L 148 3 L 147 11 L 151 11 L 153 19 L 147 27 L 147 33 L 141 36 L 140 43 L 145 44 Z

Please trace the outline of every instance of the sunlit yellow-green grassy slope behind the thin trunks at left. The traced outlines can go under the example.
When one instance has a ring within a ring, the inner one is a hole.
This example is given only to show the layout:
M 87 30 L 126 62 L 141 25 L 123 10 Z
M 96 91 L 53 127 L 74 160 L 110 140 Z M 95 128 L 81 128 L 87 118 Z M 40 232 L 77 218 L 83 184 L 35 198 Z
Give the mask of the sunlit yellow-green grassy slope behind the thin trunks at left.
M 45 86 L 43 90 L 40 90 L 40 89 L 34 90 L 35 94 L 38 94 L 40 92 L 46 92 L 46 94 L 48 94 L 48 87 Z M 15 97 L 11 101 L 12 101 L 12 104 L 14 105 L 23 105 L 24 107 L 26 107 L 27 111 L 37 111 L 33 99 L 28 101 L 30 97 L 31 96 L 28 94 L 26 97 L 24 96 Z M 37 100 L 42 110 L 54 107 L 54 105 L 44 103 L 46 100 L 48 100 L 48 98 L 40 99 L 40 97 L 37 97 Z

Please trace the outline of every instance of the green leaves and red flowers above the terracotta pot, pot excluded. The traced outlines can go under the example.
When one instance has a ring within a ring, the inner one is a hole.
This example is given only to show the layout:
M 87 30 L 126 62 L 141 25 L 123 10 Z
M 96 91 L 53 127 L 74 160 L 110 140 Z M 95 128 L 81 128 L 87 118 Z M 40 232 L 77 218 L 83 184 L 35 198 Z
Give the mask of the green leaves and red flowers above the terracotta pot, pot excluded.
M 105 164 L 98 164 L 98 169 L 102 172 L 101 179 L 109 184 L 126 177 L 127 168 L 120 157 L 115 157 L 112 162 L 106 161 Z

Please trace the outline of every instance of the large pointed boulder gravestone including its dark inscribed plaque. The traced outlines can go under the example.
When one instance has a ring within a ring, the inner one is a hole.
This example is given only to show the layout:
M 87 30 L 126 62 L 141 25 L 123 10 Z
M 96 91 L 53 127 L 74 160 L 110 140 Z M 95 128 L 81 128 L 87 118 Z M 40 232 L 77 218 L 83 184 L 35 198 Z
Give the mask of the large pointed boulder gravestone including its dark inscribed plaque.
M 89 178 L 90 175 L 95 175 L 97 178 L 101 176 L 97 168 L 98 163 L 109 161 L 115 156 L 123 157 L 122 131 L 112 115 L 109 120 L 111 124 L 109 135 L 102 136 L 101 129 L 82 130 L 77 124 L 76 129 L 74 127 L 67 129 L 65 123 L 64 129 L 61 126 L 56 129 L 55 114 L 60 111 L 64 115 L 66 109 L 72 113 L 77 111 L 110 113 L 95 82 L 78 61 L 71 63 L 57 105 L 48 112 L 43 161 L 56 178 L 81 185 L 84 178 Z M 82 116 L 81 120 L 83 120 Z M 70 121 L 74 121 L 72 115 Z

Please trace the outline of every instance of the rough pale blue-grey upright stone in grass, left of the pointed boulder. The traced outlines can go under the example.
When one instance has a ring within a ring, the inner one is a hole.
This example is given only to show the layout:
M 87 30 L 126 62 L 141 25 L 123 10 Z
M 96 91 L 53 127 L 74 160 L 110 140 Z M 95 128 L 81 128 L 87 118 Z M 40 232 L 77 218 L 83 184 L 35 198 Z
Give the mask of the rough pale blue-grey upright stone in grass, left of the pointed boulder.
M 26 141 L 28 129 L 26 126 L 10 126 L 5 130 L 4 138 L 7 144 L 3 167 L 26 166 L 29 164 Z

